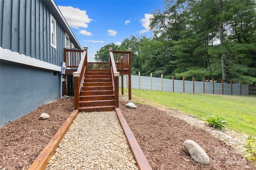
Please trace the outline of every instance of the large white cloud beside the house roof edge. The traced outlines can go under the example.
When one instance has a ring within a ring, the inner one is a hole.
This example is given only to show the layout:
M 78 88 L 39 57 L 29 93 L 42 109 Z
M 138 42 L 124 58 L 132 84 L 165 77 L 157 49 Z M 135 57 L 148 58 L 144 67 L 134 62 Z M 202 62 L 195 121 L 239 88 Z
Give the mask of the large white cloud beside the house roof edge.
M 68 25 L 72 28 L 87 28 L 92 19 L 86 15 L 86 10 L 72 6 L 58 6 Z

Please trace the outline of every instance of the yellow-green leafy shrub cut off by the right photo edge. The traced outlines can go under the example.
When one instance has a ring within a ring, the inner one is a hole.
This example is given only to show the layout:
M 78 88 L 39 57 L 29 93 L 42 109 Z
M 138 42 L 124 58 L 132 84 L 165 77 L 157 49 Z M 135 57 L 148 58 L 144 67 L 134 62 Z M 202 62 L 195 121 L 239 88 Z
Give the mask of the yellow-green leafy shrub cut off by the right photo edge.
M 256 138 L 248 136 L 248 138 L 246 138 L 246 144 L 244 147 L 246 159 L 256 162 Z

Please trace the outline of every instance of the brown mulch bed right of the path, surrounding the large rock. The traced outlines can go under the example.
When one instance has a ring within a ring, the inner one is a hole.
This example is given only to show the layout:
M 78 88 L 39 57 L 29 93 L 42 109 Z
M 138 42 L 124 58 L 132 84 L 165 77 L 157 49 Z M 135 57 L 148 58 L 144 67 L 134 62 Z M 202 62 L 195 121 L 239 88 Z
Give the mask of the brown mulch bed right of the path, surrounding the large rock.
M 148 105 L 136 103 L 137 109 L 119 107 L 152 169 L 169 170 L 248 170 L 256 169 L 239 151 L 227 146 L 203 129 Z M 183 142 L 191 139 L 210 157 L 209 165 L 194 162 L 182 149 Z

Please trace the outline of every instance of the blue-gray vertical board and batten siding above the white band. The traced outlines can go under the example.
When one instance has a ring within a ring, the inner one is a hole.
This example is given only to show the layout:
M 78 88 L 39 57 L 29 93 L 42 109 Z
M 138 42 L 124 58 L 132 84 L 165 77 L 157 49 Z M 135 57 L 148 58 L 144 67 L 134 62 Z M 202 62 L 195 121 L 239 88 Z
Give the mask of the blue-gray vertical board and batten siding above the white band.
M 0 12 L 0 47 L 60 66 L 65 31 L 44 1 L 1 0 Z M 51 15 L 56 20 L 56 49 L 50 43 Z

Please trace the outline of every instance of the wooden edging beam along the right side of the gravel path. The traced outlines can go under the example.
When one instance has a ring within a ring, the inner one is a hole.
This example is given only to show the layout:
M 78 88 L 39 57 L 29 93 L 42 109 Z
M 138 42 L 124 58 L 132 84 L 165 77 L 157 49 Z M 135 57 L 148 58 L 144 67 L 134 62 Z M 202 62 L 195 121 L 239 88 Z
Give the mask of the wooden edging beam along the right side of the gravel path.
M 132 130 L 130 129 L 130 127 L 128 126 L 128 123 L 124 119 L 124 116 L 120 108 L 117 107 L 115 108 L 115 110 L 116 110 L 116 115 L 118 117 L 119 123 L 124 131 L 124 135 L 126 137 L 128 145 L 130 146 L 132 155 L 134 156 L 134 159 L 137 162 L 138 168 L 140 170 L 152 170 L 152 167 L 148 163 L 148 160 L 144 155 L 142 149 L 140 148 L 140 145 L 138 144 L 136 138 L 134 137 Z

